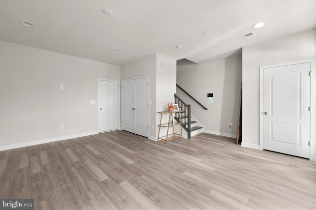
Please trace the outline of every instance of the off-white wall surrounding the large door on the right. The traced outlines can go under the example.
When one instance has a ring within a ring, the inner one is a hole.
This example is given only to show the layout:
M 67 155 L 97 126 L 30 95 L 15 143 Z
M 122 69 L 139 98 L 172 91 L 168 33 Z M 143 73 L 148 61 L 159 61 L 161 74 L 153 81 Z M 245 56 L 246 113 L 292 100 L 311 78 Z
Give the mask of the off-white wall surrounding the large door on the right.
M 259 146 L 259 67 L 313 58 L 316 58 L 316 29 L 242 49 L 243 144 Z

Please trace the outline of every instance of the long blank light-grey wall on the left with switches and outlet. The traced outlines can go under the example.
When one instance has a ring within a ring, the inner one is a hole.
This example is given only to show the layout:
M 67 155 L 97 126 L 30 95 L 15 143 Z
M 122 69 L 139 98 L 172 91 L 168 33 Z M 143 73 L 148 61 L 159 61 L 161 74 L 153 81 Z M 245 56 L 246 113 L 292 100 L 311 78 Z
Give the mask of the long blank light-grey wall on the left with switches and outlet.
M 0 147 L 97 132 L 98 78 L 120 66 L 0 41 Z

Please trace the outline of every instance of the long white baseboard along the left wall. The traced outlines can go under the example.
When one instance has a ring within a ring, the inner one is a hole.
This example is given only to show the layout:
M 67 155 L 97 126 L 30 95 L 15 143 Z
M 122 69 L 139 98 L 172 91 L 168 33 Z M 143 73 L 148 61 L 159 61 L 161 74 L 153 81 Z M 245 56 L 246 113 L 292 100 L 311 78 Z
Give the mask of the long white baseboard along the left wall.
M 56 138 L 51 138 L 51 139 L 42 139 L 42 140 L 38 140 L 38 141 L 23 142 L 23 143 L 19 143 L 19 144 L 1 146 L 0 151 L 12 150 L 12 149 L 17 149 L 17 148 L 22 148 L 22 147 L 29 147 L 29 146 L 40 145 L 40 144 L 45 144 L 45 143 L 50 143 L 50 142 L 57 142 L 57 141 L 62 141 L 62 140 L 67 140 L 67 139 L 74 139 L 74 138 L 79 138 L 79 137 L 83 137 L 83 136 L 90 136 L 90 135 L 94 135 L 94 134 L 98 134 L 98 131 L 79 133 L 79 134 L 74 134 L 74 135 L 69 135 L 69 136 L 61 136 L 61 137 L 56 137 Z

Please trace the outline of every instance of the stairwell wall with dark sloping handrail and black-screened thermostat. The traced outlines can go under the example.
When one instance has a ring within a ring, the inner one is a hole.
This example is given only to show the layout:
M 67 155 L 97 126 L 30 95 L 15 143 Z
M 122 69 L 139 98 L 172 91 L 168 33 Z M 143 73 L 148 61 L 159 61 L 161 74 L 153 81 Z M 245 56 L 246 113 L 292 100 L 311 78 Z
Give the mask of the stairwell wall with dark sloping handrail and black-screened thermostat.
M 235 137 L 241 82 L 241 56 L 202 64 L 177 66 L 177 84 L 208 110 L 202 109 L 182 90 L 177 95 L 191 104 L 192 115 L 205 126 L 205 132 Z M 213 104 L 207 93 L 213 93 Z M 233 124 L 229 128 L 229 123 Z

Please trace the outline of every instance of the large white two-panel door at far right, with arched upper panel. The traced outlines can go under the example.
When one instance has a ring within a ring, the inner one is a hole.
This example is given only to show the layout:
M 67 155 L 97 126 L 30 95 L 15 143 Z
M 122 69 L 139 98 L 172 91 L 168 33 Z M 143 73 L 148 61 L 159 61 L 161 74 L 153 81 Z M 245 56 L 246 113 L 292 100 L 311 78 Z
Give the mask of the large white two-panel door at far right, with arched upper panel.
M 263 149 L 310 158 L 310 63 L 263 68 Z

